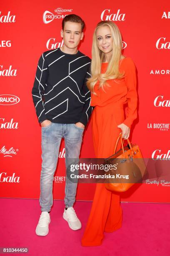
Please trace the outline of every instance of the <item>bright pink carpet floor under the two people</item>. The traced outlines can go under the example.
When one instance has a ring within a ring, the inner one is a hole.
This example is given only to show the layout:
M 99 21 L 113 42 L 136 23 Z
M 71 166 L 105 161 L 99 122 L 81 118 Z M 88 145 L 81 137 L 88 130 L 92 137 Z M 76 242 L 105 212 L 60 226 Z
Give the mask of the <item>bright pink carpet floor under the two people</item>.
M 0 247 L 26 247 L 29 252 L 25 255 L 30 256 L 170 255 L 170 204 L 121 203 L 122 228 L 105 233 L 101 246 L 83 247 L 80 241 L 91 205 L 92 202 L 75 203 L 82 228 L 74 231 L 62 218 L 64 202 L 54 200 L 49 233 L 41 237 L 35 234 L 39 200 L 0 198 Z

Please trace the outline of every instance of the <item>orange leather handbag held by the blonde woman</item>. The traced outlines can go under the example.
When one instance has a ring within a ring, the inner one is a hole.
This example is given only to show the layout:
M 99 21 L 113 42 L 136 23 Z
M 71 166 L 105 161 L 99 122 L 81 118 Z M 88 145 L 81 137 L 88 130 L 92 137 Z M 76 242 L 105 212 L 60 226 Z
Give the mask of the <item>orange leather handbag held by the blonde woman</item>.
M 122 148 L 116 151 L 118 141 L 121 140 Z M 114 153 L 112 156 L 105 159 L 105 164 L 116 164 L 116 169 L 112 168 L 109 174 L 114 178 L 106 179 L 105 187 L 115 192 L 125 192 L 135 183 L 142 183 L 143 176 L 146 173 L 146 166 L 143 156 L 138 145 L 130 144 L 123 146 L 122 133 L 117 138 Z M 128 177 L 128 179 L 127 179 Z M 127 183 L 128 181 L 128 183 Z

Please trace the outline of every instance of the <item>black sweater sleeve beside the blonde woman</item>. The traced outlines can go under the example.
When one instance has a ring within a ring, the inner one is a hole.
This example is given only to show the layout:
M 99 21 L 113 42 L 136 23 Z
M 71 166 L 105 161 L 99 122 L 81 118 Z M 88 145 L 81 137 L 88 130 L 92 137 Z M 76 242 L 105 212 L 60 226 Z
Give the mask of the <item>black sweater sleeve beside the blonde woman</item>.
M 90 115 L 92 113 L 92 107 L 90 106 L 90 102 L 91 102 L 91 93 L 87 88 L 86 82 L 87 82 L 87 78 L 89 78 L 91 76 L 90 74 L 90 64 L 88 65 L 88 69 L 87 69 L 87 73 L 86 73 L 86 77 L 84 80 L 84 84 L 83 84 L 83 91 L 85 94 L 85 105 L 82 111 L 82 116 L 79 120 L 80 123 L 83 123 L 84 125 L 87 125 L 87 122 L 90 118 Z

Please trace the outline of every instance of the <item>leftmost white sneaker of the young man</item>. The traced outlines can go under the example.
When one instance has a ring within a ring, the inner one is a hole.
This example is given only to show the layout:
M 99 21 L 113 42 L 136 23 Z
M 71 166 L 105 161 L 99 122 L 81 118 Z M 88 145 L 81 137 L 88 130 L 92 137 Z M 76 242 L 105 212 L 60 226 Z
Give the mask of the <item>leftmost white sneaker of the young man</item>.
M 46 236 L 49 229 L 48 225 L 50 224 L 50 213 L 48 212 L 42 212 L 40 215 L 39 222 L 37 224 L 37 228 L 35 230 L 35 233 L 38 236 Z

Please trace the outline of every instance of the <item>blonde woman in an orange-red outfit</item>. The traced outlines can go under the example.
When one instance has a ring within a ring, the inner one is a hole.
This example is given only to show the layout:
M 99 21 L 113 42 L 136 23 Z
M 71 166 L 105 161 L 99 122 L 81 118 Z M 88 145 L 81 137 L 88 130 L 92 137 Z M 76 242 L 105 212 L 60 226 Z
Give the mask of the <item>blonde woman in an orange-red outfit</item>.
M 130 127 L 137 118 L 135 64 L 121 54 L 121 48 L 122 38 L 115 23 L 99 22 L 93 35 L 92 77 L 87 82 L 92 95 L 90 105 L 94 107 L 92 134 L 96 158 L 112 155 L 120 132 L 122 138 L 129 138 Z M 113 232 L 121 225 L 120 195 L 107 190 L 105 184 L 97 184 L 82 246 L 100 245 L 104 231 Z

